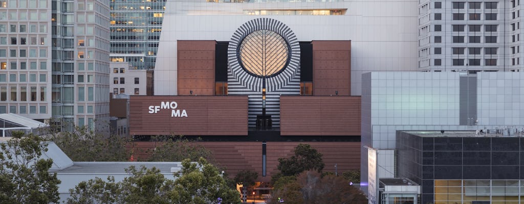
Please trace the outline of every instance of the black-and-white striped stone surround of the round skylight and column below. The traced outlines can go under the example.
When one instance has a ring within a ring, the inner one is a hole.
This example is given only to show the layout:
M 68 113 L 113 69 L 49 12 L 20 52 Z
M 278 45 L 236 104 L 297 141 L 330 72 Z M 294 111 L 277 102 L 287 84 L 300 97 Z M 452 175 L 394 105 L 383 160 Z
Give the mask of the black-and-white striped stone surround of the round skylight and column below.
M 270 30 L 281 35 L 289 46 L 289 62 L 283 70 L 266 78 L 266 114 L 271 115 L 272 127 L 280 127 L 280 95 L 300 94 L 300 45 L 293 31 L 282 22 L 270 18 L 250 20 L 239 27 L 227 49 L 228 95 L 248 95 L 248 125 L 256 126 L 262 114 L 263 78 L 249 74 L 239 62 L 238 47 L 242 40 L 257 30 Z

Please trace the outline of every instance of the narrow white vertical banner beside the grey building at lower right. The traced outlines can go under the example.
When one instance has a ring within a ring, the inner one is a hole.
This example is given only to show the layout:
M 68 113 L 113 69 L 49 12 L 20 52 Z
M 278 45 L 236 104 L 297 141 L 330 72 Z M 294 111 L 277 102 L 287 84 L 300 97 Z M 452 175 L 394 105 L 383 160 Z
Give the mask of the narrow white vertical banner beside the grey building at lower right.
M 377 150 L 367 149 L 367 182 L 368 182 L 368 203 L 377 204 L 378 176 L 377 176 Z

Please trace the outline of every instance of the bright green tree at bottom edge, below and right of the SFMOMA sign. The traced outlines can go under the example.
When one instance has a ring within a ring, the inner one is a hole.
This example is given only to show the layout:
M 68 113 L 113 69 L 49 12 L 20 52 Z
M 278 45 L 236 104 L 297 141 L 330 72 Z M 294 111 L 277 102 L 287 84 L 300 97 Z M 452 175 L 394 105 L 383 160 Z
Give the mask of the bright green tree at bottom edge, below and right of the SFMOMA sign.
M 170 198 L 172 203 L 208 204 L 239 203 L 240 195 L 227 184 L 215 166 L 200 158 L 198 163 L 182 161 L 182 170 L 174 181 Z M 220 198 L 220 199 L 219 199 Z

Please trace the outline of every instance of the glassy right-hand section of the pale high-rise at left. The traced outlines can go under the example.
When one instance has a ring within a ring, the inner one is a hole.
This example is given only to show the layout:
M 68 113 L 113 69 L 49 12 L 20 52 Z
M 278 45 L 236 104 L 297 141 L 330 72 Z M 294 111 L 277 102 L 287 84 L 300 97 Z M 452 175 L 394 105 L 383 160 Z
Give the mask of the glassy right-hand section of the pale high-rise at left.
M 50 3 L 53 122 L 69 130 L 73 125 L 101 130 L 109 119 L 108 2 Z

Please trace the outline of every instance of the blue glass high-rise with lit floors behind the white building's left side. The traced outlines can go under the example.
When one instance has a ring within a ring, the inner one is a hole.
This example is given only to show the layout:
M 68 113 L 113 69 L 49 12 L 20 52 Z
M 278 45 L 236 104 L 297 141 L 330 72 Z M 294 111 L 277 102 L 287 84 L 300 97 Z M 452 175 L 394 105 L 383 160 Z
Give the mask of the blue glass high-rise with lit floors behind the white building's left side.
M 128 62 L 132 69 L 154 69 L 166 0 L 113 0 L 111 62 Z

